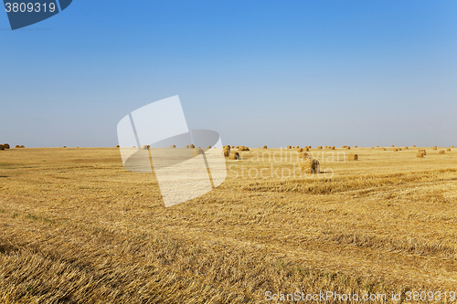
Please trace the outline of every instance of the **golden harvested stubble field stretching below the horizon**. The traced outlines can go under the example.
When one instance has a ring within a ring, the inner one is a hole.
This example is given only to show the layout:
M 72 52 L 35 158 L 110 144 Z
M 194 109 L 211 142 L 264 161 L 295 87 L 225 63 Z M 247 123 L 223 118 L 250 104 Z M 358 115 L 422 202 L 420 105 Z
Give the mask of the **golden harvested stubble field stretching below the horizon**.
M 297 162 L 291 151 L 243 152 L 216 190 L 169 208 L 154 174 L 125 171 L 118 149 L 2 152 L 0 302 L 454 290 L 456 152 L 359 148 L 363 161 L 329 162 L 320 151 L 321 170 L 335 176 L 237 178 L 270 167 L 252 161 L 256 152 L 280 153 L 280 170 Z

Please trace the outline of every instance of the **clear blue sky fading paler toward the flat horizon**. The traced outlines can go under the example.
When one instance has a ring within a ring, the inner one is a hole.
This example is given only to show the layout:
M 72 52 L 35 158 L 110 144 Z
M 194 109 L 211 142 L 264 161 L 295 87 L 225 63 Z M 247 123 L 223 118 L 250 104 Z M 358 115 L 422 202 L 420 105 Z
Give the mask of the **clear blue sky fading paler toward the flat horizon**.
M 0 12 L 0 142 L 112 147 L 178 95 L 223 144 L 457 145 L 457 2 L 74 0 Z

